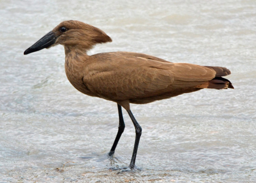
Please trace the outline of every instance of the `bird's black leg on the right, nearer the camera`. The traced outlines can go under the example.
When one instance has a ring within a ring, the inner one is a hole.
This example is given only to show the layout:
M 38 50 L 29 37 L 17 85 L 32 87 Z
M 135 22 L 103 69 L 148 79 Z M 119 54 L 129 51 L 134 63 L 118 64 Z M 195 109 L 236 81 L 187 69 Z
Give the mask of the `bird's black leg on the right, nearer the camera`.
M 135 127 L 135 132 L 136 132 L 136 136 L 135 136 L 135 143 L 134 143 L 134 147 L 133 147 L 133 156 L 131 159 L 131 163 L 129 165 L 129 168 L 134 168 L 135 166 L 135 159 L 136 159 L 136 155 L 137 155 L 137 151 L 138 151 L 138 147 L 139 147 L 139 139 L 141 136 L 141 132 L 142 132 L 142 128 L 139 126 L 139 123 L 136 121 L 136 119 L 133 116 L 133 113 L 131 112 L 131 110 L 127 110 L 133 125 Z

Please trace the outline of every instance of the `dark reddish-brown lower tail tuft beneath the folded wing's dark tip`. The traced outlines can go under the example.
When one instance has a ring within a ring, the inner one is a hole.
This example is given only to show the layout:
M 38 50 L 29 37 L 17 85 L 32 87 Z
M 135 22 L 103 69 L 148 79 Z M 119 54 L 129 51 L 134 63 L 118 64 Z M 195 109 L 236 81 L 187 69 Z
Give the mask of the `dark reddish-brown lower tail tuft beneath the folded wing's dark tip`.
M 234 86 L 232 83 L 223 78 L 223 77 L 215 77 L 210 81 L 207 81 L 201 85 L 198 85 L 197 88 L 212 88 L 212 89 L 227 89 L 227 88 L 232 88 L 234 89 Z

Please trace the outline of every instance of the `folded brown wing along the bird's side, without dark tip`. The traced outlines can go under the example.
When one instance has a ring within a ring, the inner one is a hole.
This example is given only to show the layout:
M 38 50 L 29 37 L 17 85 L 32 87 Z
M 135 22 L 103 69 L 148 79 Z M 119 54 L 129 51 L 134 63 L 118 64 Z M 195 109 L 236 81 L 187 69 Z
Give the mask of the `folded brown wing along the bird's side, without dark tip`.
M 99 97 L 126 100 L 197 86 L 216 74 L 204 66 L 157 59 L 130 52 L 96 54 L 91 57 L 83 82 Z

